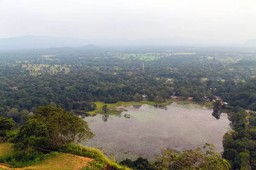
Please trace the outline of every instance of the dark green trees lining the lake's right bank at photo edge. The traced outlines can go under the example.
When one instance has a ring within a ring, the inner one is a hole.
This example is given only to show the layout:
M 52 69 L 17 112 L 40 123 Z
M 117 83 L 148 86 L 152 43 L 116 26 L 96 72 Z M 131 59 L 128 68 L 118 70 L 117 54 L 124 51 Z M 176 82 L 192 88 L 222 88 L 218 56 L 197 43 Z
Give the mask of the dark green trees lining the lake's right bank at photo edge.
M 256 113 L 235 107 L 230 114 L 232 129 L 223 136 L 223 158 L 232 170 L 256 169 Z

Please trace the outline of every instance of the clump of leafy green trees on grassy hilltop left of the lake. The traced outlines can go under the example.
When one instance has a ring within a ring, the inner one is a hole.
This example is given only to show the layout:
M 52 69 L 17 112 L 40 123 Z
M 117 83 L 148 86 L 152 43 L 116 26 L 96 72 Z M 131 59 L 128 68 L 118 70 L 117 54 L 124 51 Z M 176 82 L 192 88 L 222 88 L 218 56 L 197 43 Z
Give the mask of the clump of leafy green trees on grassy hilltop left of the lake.
M 28 155 L 39 147 L 55 148 L 80 143 L 93 136 L 88 123 L 78 116 L 61 107 L 41 106 L 38 113 L 20 127 L 13 142 L 16 150 L 24 150 Z

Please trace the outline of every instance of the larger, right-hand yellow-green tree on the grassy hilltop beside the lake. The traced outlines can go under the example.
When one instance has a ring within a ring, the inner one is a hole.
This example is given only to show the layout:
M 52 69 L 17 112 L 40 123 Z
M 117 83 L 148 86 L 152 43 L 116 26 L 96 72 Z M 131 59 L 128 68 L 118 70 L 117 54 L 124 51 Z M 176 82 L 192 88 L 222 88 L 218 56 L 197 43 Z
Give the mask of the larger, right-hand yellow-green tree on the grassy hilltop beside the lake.
M 63 108 L 41 106 L 32 119 L 45 122 L 48 131 L 48 140 L 56 146 L 70 142 L 79 143 L 95 136 L 88 123 Z

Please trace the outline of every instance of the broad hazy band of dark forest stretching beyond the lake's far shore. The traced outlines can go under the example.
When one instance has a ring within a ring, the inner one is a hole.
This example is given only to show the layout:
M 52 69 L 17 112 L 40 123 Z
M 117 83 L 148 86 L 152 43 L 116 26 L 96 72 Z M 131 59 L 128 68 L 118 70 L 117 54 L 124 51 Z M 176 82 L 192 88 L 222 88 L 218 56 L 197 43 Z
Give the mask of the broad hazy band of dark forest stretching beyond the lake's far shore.
M 137 49 L 137 53 L 142 54 L 144 50 Z M 176 92 L 176 96 L 194 97 L 198 102 L 205 95 L 212 99 L 217 95 L 231 105 L 256 109 L 255 80 L 251 78 L 256 75 L 253 57 L 245 56 L 237 63 L 223 63 L 218 60 L 222 59 L 218 56 L 224 55 L 226 51 L 208 51 L 209 56 L 216 59 L 207 59 L 202 57 L 207 55 L 207 51 L 199 50 L 198 54 L 169 55 L 157 61 L 143 61 L 145 71 L 142 71 L 141 60 L 122 58 L 125 52 L 135 52 L 132 49 L 54 48 L 27 51 L 27 60 L 17 62 L 19 54 L 24 56 L 25 52 L 17 51 L 12 56 L 12 61 L 0 65 L 0 110 L 8 110 L 3 108 L 8 106 L 9 109 L 17 108 L 18 111 L 35 111 L 41 105 L 61 105 L 68 110 L 90 111 L 91 108 L 84 108 L 81 102 L 129 102 L 137 93 L 146 94 L 150 100 L 154 100 L 156 96 L 164 100 L 169 99 L 173 92 Z M 7 54 L 10 53 L 3 56 Z M 42 54 L 57 55 L 46 59 Z M 240 56 L 241 53 L 237 54 Z M 233 57 L 232 55 L 229 57 Z M 1 59 L 6 61 L 6 58 Z M 29 70 L 22 68 L 23 64 L 66 65 L 70 72 L 65 74 L 64 71 L 58 71 L 57 74 L 50 74 L 49 71 L 42 71 L 40 75 L 30 75 Z M 202 81 L 201 78 L 208 80 Z M 167 79 L 172 79 L 173 83 L 166 82 Z M 221 79 L 225 81 L 221 82 Z

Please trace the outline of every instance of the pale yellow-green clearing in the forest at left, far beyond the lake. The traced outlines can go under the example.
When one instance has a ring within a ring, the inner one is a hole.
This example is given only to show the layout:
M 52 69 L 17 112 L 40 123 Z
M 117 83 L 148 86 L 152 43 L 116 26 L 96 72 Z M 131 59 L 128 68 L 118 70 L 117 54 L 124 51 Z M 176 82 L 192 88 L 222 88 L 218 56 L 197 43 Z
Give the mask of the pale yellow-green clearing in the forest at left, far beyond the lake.
M 60 70 L 59 71 L 62 71 L 62 69 L 64 68 L 65 69 L 65 73 L 68 73 L 70 71 L 70 68 L 67 67 L 67 65 L 64 65 L 61 67 L 61 65 L 52 65 L 50 67 L 50 70 L 49 72 L 51 74 L 55 74 L 55 71 L 56 73 L 58 72 L 58 67 L 60 67 Z M 41 70 L 44 70 L 45 69 L 48 69 L 49 68 L 49 64 L 28 64 L 28 65 L 22 65 L 22 68 L 25 68 L 26 70 L 29 70 L 29 74 L 30 75 L 37 75 L 37 74 L 41 74 L 40 71 Z M 32 71 L 31 71 L 32 69 Z

